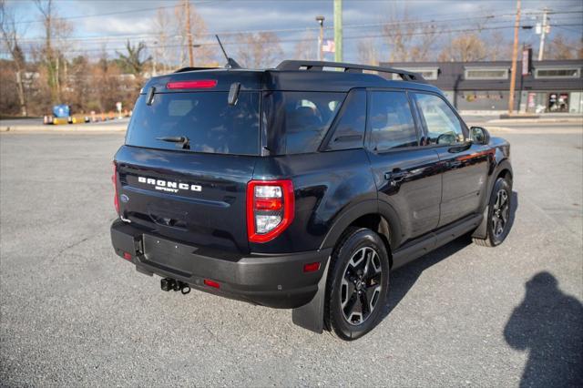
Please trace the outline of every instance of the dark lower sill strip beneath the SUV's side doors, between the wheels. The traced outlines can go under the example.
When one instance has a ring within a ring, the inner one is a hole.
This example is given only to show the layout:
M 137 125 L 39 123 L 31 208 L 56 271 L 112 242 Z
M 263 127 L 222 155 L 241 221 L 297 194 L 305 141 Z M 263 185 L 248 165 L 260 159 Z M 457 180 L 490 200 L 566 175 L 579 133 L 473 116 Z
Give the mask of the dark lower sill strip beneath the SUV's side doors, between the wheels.
M 393 252 L 392 270 L 424 256 L 424 254 L 465 235 L 465 233 L 471 230 L 475 230 L 483 218 L 484 216 L 482 214 L 471 215 L 463 220 L 447 225 L 440 230 L 435 230 L 419 239 L 404 244 L 403 247 Z

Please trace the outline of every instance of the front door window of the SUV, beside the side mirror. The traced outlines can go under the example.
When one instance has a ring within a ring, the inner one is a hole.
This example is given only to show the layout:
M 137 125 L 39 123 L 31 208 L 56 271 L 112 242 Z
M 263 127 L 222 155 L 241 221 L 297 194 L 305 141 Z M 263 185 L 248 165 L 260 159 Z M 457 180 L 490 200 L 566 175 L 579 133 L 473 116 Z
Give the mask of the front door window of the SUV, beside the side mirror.
M 434 95 L 415 94 L 417 107 L 427 128 L 427 144 L 455 144 L 464 142 L 464 131 L 459 118 L 445 101 Z

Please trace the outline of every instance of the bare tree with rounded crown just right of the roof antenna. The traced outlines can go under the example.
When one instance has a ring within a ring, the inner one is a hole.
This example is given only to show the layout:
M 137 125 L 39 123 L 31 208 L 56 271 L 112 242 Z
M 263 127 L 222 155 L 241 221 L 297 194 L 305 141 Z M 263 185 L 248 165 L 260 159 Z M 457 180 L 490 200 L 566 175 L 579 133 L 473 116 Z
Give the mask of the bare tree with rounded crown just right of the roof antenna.
M 275 62 L 283 55 L 280 38 L 272 32 L 240 34 L 237 44 L 237 60 L 240 59 L 242 65 L 251 68 L 275 66 Z

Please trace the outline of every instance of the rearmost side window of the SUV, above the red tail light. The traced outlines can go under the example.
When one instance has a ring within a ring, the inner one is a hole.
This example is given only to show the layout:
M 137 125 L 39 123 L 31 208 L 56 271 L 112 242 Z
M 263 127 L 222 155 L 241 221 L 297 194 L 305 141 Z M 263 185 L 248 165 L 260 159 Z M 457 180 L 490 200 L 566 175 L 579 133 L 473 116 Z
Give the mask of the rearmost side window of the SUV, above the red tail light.
M 265 92 L 267 147 L 271 153 L 290 155 L 317 151 L 344 97 L 345 93 Z

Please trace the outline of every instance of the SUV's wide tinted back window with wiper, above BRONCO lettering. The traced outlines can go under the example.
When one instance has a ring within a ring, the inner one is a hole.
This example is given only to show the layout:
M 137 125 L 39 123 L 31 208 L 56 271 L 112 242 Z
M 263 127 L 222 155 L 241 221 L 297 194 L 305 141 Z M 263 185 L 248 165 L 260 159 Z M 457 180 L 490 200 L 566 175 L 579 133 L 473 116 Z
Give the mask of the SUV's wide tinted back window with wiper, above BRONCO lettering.
M 129 146 L 182 149 L 157 138 L 185 137 L 189 151 L 214 154 L 259 155 L 259 92 L 240 92 L 237 104 L 229 92 L 163 93 L 151 106 L 141 95 L 128 126 Z

